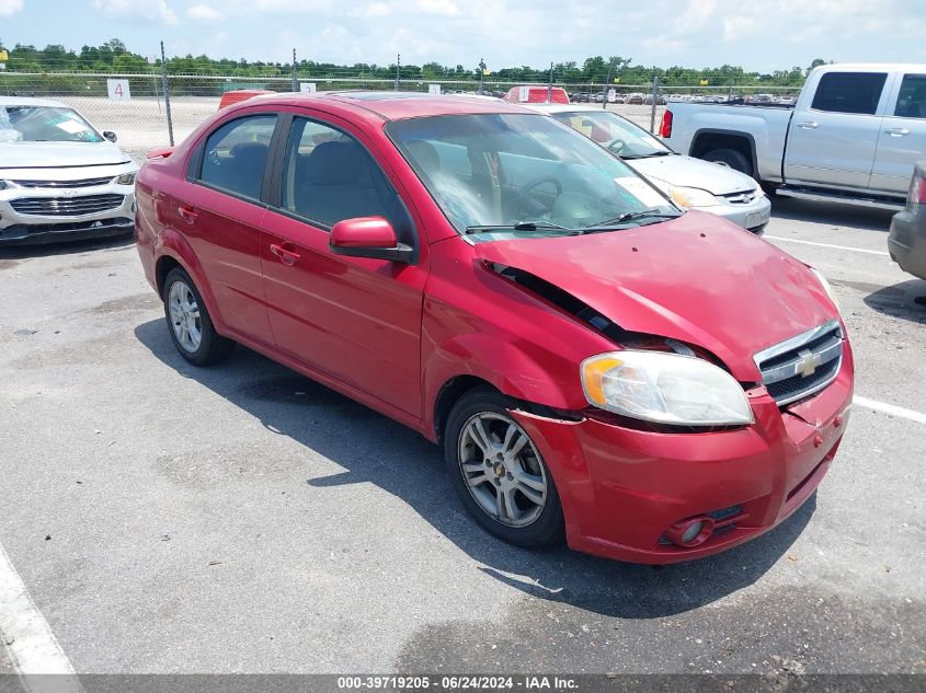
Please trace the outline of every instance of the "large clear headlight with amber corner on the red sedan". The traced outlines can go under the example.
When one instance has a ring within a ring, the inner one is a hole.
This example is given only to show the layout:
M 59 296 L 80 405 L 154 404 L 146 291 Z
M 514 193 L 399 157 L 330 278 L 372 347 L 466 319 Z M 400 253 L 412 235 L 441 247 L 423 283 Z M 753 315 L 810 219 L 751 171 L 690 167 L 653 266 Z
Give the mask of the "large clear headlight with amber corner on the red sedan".
M 582 389 L 597 407 L 659 424 L 753 423 L 743 389 L 704 359 L 662 351 L 610 351 L 582 361 Z

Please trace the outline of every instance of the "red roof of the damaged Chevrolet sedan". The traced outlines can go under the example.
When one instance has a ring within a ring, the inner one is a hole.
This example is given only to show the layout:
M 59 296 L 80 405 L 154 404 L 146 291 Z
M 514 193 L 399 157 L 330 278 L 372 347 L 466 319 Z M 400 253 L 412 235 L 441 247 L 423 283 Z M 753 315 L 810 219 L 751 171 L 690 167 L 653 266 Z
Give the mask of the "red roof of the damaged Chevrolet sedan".
M 236 107 L 255 105 L 334 106 L 355 114 L 373 114 L 384 120 L 402 120 L 435 115 L 465 115 L 492 113 L 526 113 L 515 104 L 500 99 L 434 95 L 422 92 L 395 91 L 339 91 L 312 93 L 278 93 L 254 96 Z

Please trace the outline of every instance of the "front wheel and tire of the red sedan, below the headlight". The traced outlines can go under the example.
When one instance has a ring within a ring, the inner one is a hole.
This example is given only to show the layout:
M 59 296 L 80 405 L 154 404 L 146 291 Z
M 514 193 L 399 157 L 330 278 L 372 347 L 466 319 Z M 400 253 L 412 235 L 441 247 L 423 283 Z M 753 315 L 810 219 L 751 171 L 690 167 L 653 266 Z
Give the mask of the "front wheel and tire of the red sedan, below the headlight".
M 518 546 L 563 536 L 562 504 L 537 446 L 512 418 L 516 403 L 488 388 L 466 393 L 444 429 L 450 483 L 491 534 Z

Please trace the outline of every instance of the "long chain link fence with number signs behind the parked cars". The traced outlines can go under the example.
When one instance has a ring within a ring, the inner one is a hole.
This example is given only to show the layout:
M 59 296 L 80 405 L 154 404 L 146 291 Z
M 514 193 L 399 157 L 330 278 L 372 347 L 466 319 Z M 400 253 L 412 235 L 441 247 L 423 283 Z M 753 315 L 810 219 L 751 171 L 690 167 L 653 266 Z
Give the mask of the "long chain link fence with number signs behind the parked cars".
M 235 90 L 339 91 L 400 90 L 444 94 L 479 94 L 501 97 L 512 88 L 561 88 L 578 103 L 601 104 L 638 125 L 659 127 L 666 103 L 740 101 L 744 103 L 793 103 L 800 88 L 773 86 L 668 86 L 607 83 L 527 83 L 475 80 L 377 79 L 352 76 L 335 78 L 236 77 L 93 72 L 0 71 L 0 94 L 47 97 L 80 112 L 100 130 L 112 130 L 119 146 L 140 159 L 145 152 L 182 141 L 205 118 L 214 114 L 222 94 Z M 167 88 L 167 89 L 165 89 Z M 170 108 L 168 108 L 168 101 Z M 170 112 L 170 118 L 168 116 Z

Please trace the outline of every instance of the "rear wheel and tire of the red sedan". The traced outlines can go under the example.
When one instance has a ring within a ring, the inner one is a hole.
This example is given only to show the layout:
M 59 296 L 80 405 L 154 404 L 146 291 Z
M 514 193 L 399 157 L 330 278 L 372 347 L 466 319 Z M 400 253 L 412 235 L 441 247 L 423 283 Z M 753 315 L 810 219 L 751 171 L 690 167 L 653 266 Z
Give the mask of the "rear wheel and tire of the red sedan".
M 229 357 L 235 342 L 216 332 L 196 285 L 180 267 L 164 279 L 164 317 L 180 355 L 196 366 L 218 363 Z

